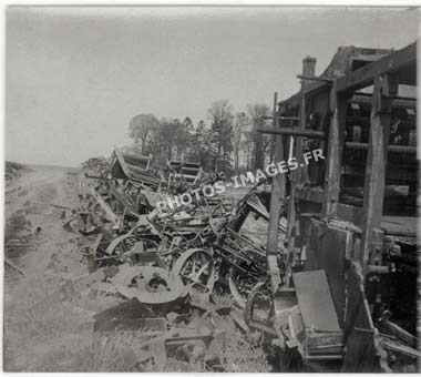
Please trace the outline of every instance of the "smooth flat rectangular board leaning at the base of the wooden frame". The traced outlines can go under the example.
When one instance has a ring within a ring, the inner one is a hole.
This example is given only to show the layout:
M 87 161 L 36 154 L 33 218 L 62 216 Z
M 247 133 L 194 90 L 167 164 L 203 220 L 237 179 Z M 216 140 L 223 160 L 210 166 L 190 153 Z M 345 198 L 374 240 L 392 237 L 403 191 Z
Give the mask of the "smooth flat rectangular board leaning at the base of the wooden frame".
M 325 271 L 296 273 L 292 279 L 306 328 L 340 332 Z

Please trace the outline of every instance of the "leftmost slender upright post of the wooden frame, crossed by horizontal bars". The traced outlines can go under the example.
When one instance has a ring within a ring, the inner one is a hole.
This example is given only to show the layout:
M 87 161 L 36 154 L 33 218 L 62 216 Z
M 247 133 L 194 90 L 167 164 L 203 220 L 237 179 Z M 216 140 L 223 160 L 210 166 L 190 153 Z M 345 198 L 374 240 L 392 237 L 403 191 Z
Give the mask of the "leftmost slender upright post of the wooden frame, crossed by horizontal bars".
M 278 94 L 274 94 L 274 129 L 279 126 L 277 112 Z M 283 135 L 275 135 L 275 163 L 284 160 Z M 271 180 L 270 191 L 270 213 L 267 237 L 267 266 L 270 276 L 273 292 L 277 292 L 280 286 L 279 268 L 277 263 L 278 233 L 280 217 L 280 201 L 285 197 L 285 174 L 278 173 Z

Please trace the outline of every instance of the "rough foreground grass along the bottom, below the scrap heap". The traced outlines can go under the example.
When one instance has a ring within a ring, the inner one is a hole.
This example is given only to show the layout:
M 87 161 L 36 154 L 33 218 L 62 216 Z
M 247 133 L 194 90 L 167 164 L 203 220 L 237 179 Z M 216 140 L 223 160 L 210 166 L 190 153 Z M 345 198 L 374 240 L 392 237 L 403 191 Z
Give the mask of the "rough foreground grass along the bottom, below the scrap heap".
M 33 277 L 13 289 L 13 297 L 19 299 L 8 305 L 4 315 L 6 371 L 208 370 L 203 359 L 194 364 L 168 359 L 165 365 L 132 365 L 127 361 L 130 349 L 119 337 L 106 347 L 94 342 L 91 314 L 109 307 L 114 298 L 91 295 L 75 302 L 54 302 L 51 283 Z M 261 346 L 237 329 L 226 337 L 220 361 L 225 371 L 270 371 Z

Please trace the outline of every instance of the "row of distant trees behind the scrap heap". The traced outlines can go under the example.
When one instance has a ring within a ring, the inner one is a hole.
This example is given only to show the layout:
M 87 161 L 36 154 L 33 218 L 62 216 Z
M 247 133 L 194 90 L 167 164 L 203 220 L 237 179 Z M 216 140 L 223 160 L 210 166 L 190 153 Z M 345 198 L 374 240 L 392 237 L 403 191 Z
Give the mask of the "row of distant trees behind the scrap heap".
M 238 174 L 244 170 L 263 169 L 265 155 L 273 155 L 271 137 L 257 132 L 269 115 L 266 104 L 248 104 L 246 111 L 235 113 L 228 100 L 215 101 L 205 120 L 194 124 L 189 116 L 157 119 L 154 114 L 138 114 L 129 124 L 133 140 L 132 152 L 153 154 L 157 164 L 166 161 L 198 162 L 209 172 Z

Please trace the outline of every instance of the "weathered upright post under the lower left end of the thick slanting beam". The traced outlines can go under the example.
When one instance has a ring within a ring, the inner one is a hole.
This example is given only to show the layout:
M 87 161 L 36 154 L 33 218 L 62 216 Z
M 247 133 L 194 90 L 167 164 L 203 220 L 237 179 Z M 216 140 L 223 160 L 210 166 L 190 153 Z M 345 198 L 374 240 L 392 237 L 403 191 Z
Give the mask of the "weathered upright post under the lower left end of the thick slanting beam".
M 336 90 L 337 81 L 330 90 L 329 111 L 331 113 L 328 151 L 326 159 L 325 193 L 321 208 L 322 218 L 335 216 L 339 202 L 340 166 L 342 160 L 342 143 L 347 116 L 347 98 Z

